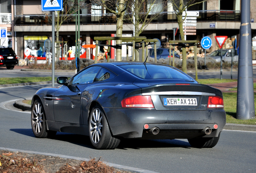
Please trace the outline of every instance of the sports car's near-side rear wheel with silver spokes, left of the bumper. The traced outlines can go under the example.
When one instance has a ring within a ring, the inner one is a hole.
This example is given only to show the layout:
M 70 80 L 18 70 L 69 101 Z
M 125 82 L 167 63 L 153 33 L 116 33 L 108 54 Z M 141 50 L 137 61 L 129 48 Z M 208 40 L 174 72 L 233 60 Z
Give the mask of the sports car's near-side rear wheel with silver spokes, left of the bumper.
M 95 105 L 89 116 L 89 137 L 96 149 L 115 149 L 120 140 L 111 136 L 105 114 L 99 105 Z

